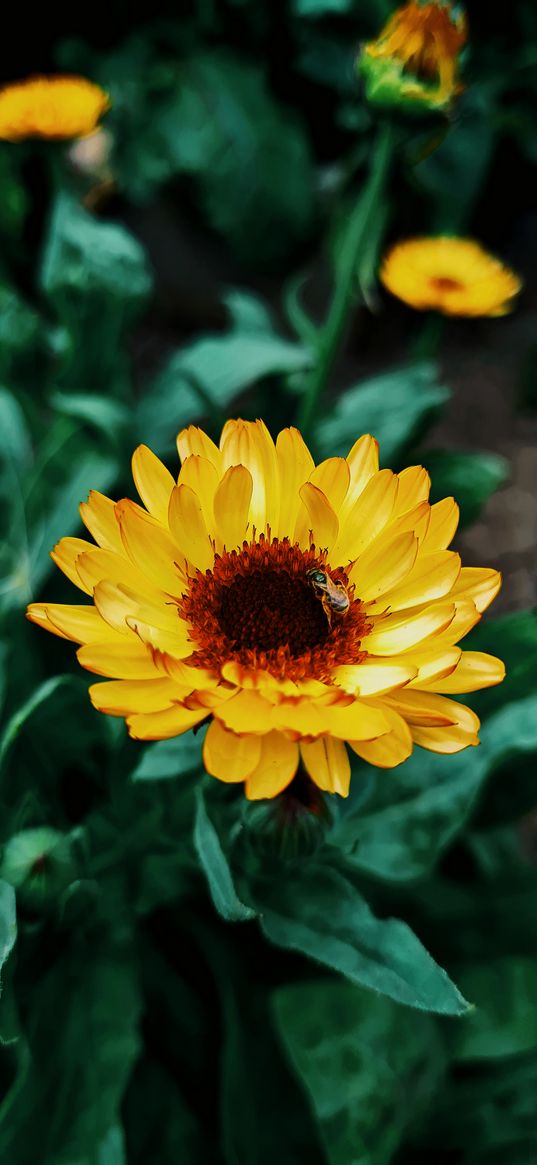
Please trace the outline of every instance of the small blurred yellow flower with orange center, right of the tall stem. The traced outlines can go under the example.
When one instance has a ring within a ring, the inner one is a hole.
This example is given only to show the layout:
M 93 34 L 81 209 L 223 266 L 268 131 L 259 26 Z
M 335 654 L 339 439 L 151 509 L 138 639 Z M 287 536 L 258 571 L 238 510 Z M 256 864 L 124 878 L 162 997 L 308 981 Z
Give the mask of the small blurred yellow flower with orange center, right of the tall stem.
M 445 316 L 506 316 L 522 282 L 473 239 L 407 239 L 384 255 L 388 291 L 418 311 Z

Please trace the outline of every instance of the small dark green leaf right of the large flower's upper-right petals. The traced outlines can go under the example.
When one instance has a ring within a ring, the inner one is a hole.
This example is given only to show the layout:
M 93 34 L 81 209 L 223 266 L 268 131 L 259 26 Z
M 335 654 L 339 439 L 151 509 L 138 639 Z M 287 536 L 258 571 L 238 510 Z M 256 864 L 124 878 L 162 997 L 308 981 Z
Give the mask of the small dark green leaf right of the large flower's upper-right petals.
M 476 521 L 490 495 L 509 476 L 509 463 L 497 453 L 428 450 L 423 463 L 431 474 L 431 502 L 453 495 L 460 506 L 462 528 Z

